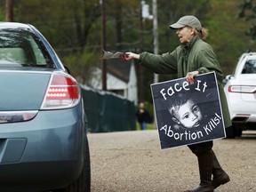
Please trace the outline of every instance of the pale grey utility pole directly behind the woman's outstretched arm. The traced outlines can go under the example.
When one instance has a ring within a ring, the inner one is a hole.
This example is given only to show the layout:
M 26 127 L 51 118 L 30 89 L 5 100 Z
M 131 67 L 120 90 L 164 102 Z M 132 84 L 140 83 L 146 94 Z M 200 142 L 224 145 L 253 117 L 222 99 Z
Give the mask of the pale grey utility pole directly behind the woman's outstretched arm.
M 152 0 L 152 9 L 153 9 L 153 36 L 154 36 L 154 53 L 158 54 L 159 52 L 159 43 L 158 43 L 158 24 L 157 24 L 157 0 Z M 154 74 L 154 83 L 159 81 L 158 74 Z

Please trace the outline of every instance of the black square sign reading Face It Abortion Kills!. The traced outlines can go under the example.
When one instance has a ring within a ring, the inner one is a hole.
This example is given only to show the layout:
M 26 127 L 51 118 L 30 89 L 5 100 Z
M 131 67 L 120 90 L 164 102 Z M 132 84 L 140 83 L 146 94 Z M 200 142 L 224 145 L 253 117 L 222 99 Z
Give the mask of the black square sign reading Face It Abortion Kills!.
M 161 148 L 226 137 L 214 72 L 151 84 Z

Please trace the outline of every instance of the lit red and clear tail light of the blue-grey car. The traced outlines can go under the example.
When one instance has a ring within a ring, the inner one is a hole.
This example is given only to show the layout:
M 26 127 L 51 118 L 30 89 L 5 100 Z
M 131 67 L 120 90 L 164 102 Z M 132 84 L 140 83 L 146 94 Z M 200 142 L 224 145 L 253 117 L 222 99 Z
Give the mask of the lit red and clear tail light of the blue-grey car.
M 80 97 L 80 87 L 72 76 L 53 73 L 41 109 L 72 108 Z

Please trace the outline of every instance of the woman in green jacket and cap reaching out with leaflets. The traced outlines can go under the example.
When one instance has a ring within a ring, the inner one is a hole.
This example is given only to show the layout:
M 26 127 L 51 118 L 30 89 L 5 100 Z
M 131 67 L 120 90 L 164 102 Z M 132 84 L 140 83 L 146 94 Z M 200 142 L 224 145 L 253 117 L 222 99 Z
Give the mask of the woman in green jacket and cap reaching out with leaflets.
M 180 38 L 181 43 L 173 52 L 166 52 L 163 55 L 154 55 L 149 52 L 142 52 L 140 54 L 126 52 L 122 57 L 123 60 L 140 60 L 142 66 L 154 73 L 177 74 L 178 78 L 185 76 L 189 84 L 194 83 L 196 75 L 215 71 L 225 127 L 231 126 L 228 104 L 222 85 L 223 73 L 212 50 L 212 46 L 203 41 L 208 35 L 207 29 L 202 28 L 201 22 L 191 15 L 181 17 L 170 28 L 177 29 L 176 34 Z M 212 146 L 212 141 L 188 146 L 197 156 L 201 180 L 196 188 L 188 191 L 211 192 L 214 188 L 218 188 L 229 181 L 228 174 L 220 167 L 212 151 Z

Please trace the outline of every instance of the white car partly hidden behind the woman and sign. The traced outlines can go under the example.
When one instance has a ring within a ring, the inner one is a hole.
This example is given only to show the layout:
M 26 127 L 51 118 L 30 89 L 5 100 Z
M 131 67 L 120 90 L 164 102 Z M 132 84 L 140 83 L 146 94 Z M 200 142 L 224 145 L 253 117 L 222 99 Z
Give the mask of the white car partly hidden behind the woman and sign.
M 228 138 L 240 137 L 243 130 L 256 130 L 256 52 L 246 52 L 238 60 L 233 75 L 225 78 L 224 91 L 233 127 Z

